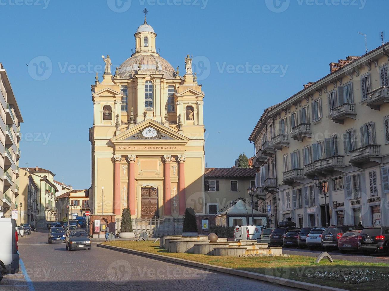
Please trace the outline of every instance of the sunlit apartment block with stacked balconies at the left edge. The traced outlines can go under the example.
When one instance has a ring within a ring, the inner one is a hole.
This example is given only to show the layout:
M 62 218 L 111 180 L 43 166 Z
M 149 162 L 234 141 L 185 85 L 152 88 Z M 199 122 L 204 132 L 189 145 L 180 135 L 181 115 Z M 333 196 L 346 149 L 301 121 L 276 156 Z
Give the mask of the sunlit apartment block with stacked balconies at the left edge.
M 23 118 L 12 91 L 7 71 L 0 63 L 0 216 L 11 217 L 18 210 L 16 197 L 19 195 L 19 142 L 20 124 Z M 22 205 L 21 214 L 27 206 Z M 20 213 L 18 214 L 20 216 Z

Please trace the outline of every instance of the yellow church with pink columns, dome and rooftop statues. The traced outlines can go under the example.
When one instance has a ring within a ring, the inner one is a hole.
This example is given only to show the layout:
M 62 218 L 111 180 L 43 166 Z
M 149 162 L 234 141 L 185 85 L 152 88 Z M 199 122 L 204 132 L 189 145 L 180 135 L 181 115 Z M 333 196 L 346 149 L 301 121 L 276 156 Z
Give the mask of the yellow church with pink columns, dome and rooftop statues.
M 156 49 L 147 24 L 135 33 L 129 59 L 111 73 L 103 56 L 102 81 L 91 85 L 91 213 L 133 218 L 204 213 L 204 124 L 201 85 L 185 58 L 185 73 Z

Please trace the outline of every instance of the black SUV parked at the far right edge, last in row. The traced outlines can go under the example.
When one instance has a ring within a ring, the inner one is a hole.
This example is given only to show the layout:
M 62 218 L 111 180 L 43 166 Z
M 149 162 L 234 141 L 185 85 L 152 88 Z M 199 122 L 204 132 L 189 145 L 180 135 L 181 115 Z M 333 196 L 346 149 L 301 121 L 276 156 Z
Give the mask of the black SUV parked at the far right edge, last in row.
M 365 227 L 358 236 L 358 249 L 363 255 L 389 254 L 389 226 Z

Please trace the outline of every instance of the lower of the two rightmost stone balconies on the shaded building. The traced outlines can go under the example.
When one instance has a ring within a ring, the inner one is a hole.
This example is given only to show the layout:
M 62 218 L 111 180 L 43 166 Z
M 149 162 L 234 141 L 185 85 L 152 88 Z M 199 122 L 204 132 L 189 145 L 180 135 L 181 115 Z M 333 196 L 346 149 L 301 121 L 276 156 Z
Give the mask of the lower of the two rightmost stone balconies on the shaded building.
M 368 168 L 382 163 L 381 146 L 366 145 L 350 151 L 350 163 L 358 168 Z

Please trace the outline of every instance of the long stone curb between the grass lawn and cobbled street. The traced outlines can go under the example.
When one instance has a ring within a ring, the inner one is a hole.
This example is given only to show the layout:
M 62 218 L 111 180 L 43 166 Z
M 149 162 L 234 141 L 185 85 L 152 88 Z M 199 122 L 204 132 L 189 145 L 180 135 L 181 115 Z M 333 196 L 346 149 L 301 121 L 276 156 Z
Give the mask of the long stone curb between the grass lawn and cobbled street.
M 346 291 L 345 289 L 320 286 L 317 284 L 305 283 L 305 282 L 289 280 L 289 279 L 284 279 L 284 278 L 274 277 L 274 276 L 267 276 L 267 275 L 258 274 L 258 273 L 254 273 L 254 272 L 236 270 L 236 269 L 226 268 L 226 267 L 219 267 L 219 266 L 215 266 L 215 265 L 209 265 L 206 263 L 200 263 L 200 262 L 189 261 L 189 260 L 184 260 L 184 259 L 179 259 L 179 258 L 173 258 L 170 256 L 163 256 L 163 255 L 158 255 L 158 254 L 153 254 L 153 253 L 147 253 L 144 251 L 136 251 L 135 249 L 126 249 L 126 248 L 120 248 L 117 246 L 107 246 L 105 244 L 97 244 L 97 246 L 100 248 L 112 249 L 112 250 L 121 251 L 124 253 L 131 253 L 131 254 L 140 255 L 140 256 L 147 256 L 149 258 L 155 258 L 155 259 L 170 261 L 170 262 L 174 262 L 174 263 L 180 263 L 180 264 L 189 265 L 192 267 L 205 268 L 208 270 L 213 270 L 216 272 L 236 275 L 236 276 L 240 276 L 240 277 L 246 277 L 249 279 L 266 281 L 266 282 L 269 282 L 272 284 L 288 286 L 288 287 L 292 287 L 292 288 L 300 288 L 300 289 L 311 290 L 311 291 Z

